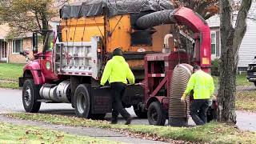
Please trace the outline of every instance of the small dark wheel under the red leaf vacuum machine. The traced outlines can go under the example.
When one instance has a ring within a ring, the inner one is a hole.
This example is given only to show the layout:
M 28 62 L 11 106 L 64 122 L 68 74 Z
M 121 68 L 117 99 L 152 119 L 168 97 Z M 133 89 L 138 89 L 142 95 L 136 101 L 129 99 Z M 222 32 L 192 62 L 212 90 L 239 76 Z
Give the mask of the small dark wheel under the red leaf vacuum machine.
M 152 102 L 150 104 L 149 110 L 147 110 L 147 118 L 149 120 L 150 125 L 154 125 L 154 126 L 165 125 L 166 114 L 160 102 Z

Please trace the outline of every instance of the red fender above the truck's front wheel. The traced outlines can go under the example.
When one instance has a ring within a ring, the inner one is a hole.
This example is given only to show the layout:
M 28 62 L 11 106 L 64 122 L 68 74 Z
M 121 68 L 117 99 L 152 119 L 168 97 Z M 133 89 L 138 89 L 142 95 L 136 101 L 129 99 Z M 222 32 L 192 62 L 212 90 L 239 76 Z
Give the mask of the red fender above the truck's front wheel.
M 24 70 L 24 74 L 26 74 L 28 70 L 30 71 L 30 73 L 33 76 L 35 85 L 42 85 L 45 83 L 46 79 L 42 74 L 42 71 L 38 62 L 30 62 L 29 64 L 24 66 L 23 70 Z M 24 74 L 23 74 L 23 77 L 25 76 Z

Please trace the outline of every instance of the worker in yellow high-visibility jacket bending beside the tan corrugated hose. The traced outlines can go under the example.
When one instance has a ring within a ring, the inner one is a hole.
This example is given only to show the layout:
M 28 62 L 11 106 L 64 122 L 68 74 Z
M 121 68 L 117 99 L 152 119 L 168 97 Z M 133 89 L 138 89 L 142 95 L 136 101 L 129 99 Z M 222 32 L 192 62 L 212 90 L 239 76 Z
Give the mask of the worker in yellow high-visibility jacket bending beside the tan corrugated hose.
M 196 125 L 204 125 L 207 122 L 206 112 L 209 100 L 214 94 L 214 80 L 210 74 L 202 71 L 200 66 L 193 66 L 193 71 L 194 74 L 190 77 L 181 101 L 185 102 L 186 96 L 190 94 L 191 90 L 194 90 L 194 98 L 190 105 L 190 116 Z

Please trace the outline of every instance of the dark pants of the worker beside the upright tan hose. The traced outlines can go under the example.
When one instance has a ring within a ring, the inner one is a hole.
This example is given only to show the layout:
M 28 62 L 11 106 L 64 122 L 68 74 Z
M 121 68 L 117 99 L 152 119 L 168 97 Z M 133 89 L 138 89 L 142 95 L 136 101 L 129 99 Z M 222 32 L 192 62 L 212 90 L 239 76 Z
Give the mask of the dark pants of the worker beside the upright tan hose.
M 197 125 L 207 122 L 206 112 L 208 110 L 208 99 L 194 99 L 190 105 L 190 116 Z

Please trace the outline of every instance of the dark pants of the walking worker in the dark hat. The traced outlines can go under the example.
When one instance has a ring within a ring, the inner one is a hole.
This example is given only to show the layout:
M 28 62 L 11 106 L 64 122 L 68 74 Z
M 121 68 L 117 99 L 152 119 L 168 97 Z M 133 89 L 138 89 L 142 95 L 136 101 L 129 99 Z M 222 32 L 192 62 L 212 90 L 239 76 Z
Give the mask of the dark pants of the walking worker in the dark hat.
M 113 82 L 110 84 L 111 96 L 112 96 L 112 118 L 113 120 L 118 119 L 118 114 L 120 113 L 123 118 L 130 118 L 130 114 L 122 106 L 122 97 L 124 96 L 126 90 L 126 84 L 122 82 Z

